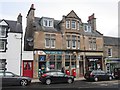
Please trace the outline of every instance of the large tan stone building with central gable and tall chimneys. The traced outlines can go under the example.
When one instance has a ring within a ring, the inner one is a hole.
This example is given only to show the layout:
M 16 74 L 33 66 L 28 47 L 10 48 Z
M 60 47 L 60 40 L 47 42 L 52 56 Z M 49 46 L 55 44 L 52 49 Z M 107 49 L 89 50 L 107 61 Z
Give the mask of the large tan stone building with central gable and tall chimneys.
M 34 52 L 33 78 L 44 70 L 69 70 L 76 77 L 87 70 L 103 69 L 103 35 L 96 30 L 94 14 L 83 23 L 72 10 L 62 20 L 27 14 L 24 50 Z

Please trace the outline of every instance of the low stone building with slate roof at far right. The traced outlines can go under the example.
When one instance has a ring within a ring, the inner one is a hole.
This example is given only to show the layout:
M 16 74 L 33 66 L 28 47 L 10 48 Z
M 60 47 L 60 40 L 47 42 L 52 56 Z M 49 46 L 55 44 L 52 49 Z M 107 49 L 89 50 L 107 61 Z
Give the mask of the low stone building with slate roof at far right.
M 105 70 L 112 73 L 114 68 L 120 67 L 119 38 L 104 36 Z

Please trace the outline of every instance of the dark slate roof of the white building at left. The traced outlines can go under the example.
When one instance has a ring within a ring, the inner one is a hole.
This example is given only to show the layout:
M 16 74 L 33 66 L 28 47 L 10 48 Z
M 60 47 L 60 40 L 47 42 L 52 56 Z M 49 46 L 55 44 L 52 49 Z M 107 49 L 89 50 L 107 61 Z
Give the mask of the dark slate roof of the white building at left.
M 20 23 L 17 23 L 17 21 L 13 21 L 13 20 L 5 20 L 5 19 L 2 19 L 0 20 L 0 22 L 2 21 L 5 21 L 9 28 L 10 28 L 10 31 L 9 32 L 13 32 L 13 33 L 23 33 L 23 30 L 22 30 L 22 24 Z

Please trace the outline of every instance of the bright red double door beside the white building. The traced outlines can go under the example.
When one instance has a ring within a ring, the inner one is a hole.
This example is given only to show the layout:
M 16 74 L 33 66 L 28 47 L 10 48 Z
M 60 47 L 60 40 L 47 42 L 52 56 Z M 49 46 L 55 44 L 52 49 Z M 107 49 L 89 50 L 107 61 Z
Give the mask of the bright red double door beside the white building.
M 33 62 L 32 61 L 24 61 L 23 62 L 23 76 L 33 77 Z

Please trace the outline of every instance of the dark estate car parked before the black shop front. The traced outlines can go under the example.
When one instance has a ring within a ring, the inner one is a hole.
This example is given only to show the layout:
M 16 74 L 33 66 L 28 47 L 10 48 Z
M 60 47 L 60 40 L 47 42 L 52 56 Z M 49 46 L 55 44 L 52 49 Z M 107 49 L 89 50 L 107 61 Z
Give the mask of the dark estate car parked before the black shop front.
M 98 80 L 112 80 L 113 76 L 112 74 L 105 73 L 102 70 L 93 70 L 86 72 L 84 78 L 86 80 L 98 81 Z

